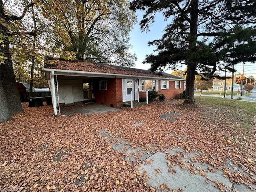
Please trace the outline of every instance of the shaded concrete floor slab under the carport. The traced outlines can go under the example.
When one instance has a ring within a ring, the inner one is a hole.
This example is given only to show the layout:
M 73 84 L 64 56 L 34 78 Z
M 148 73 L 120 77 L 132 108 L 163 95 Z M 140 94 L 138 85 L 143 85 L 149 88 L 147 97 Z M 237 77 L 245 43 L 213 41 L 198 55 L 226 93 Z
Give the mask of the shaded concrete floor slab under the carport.
M 58 107 L 57 107 L 58 110 Z M 62 115 L 72 115 L 75 113 L 80 114 L 93 114 L 93 113 L 106 113 L 108 111 L 118 111 L 120 109 L 116 109 L 113 107 L 108 107 L 98 103 L 89 103 L 83 104 L 82 102 L 76 103 L 74 106 L 60 106 L 60 113 Z

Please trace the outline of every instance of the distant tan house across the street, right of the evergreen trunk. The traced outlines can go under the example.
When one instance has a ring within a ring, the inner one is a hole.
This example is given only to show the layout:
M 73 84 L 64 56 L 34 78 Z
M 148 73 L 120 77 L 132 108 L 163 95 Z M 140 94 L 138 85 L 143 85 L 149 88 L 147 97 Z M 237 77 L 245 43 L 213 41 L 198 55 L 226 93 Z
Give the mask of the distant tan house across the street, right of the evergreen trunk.
M 212 80 L 212 84 L 213 84 L 212 86 L 213 91 L 224 91 L 225 80 L 215 78 L 214 80 Z M 226 90 L 231 91 L 231 87 L 232 87 L 232 78 L 228 78 L 226 79 Z M 237 91 L 239 89 L 241 89 L 241 85 L 236 84 L 234 82 L 233 91 Z

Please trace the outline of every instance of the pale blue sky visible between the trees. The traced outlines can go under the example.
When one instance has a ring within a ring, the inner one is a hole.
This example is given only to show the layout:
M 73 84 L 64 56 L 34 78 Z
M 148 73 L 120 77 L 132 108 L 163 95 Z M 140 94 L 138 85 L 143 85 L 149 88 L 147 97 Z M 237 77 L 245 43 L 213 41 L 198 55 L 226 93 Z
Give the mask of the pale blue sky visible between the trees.
M 150 68 L 150 64 L 142 64 L 142 62 L 146 58 L 146 54 L 151 54 L 154 52 L 156 47 L 148 46 L 148 42 L 156 39 L 162 38 L 163 30 L 166 27 L 167 22 L 164 21 L 164 17 L 161 13 L 157 13 L 155 16 L 155 22 L 150 26 L 147 32 L 142 32 L 140 30 L 139 22 L 143 18 L 142 11 L 136 11 L 136 16 L 138 19 L 138 23 L 134 25 L 133 30 L 130 32 L 130 44 L 132 48 L 130 48 L 130 52 L 135 53 L 137 56 L 136 65 L 134 68 L 138 69 L 148 69 Z M 186 66 L 182 66 L 180 70 L 184 70 Z M 235 66 L 237 72 L 235 74 L 242 74 L 243 64 L 237 64 Z M 172 70 L 165 70 L 166 73 L 171 73 Z M 224 76 L 224 74 L 222 74 Z M 232 76 L 232 73 L 227 72 L 227 76 Z M 256 63 L 245 63 L 244 64 L 244 76 L 254 76 L 256 79 Z

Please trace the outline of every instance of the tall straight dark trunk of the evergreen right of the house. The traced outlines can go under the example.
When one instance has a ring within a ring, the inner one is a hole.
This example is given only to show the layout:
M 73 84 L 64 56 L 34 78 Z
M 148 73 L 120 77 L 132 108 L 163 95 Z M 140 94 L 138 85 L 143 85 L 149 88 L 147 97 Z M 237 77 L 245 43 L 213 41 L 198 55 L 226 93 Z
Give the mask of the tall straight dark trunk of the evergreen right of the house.
M 191 54 L 191 53 L 196 51 L 197 21 L 198 21 L 198 1 L 191 1 L 190 33 L 189 33 L 189 45 L 188 45 L 188 52 L 190 53 L 190 58 L 188 58 L 188 69 L 187 69 L 186 90 L 185 90 L 185 100 L 184 100 L 184 103 L 186 104 L 193 104 L 195 102 L 194 86 L 195 86 L 195 75 L 196 75 L 196 59 L 194 58 L 194 54 Z

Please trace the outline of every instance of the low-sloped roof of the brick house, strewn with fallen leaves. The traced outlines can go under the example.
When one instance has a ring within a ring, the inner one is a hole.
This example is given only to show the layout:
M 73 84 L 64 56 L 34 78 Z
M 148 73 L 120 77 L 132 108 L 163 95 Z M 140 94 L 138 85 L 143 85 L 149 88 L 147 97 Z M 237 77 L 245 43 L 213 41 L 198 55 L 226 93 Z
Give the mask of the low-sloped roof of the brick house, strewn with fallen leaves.
M 116 75 L 116 76 L 144 76 L 144 77 L 158 77 L 158 78 L 170 78 L 175 80 L 183 80 L 185 79 L 174 76 L 168 73 L 158 74 L 158 72 L 152 73 L 150 70 L 143 70 L 143 69 L 136 69 L 136 68 L 129 68 L 123 66 L 115 66 L 109 64 L 102 64 L 102 63 L 92 63 L 92 62 L 84 62 L 78 60 L 45 60 L 44 62 L 44 70 L 45 71 L 55 71 L 55 72 L 62 72 L 65 71 L 69 74 L 79 73 L 83 74 L 83 72 L 89 72 L 90 74 L 109 74 L 109 75 Z

